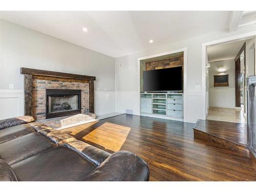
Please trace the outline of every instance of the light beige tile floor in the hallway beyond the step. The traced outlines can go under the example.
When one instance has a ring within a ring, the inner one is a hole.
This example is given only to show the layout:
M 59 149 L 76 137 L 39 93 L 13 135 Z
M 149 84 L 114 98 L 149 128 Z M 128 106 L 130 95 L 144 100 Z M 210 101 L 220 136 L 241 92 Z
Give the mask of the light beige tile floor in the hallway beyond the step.
M 216 121 L 227 121 L 235 123 L 246 123 L 246 117 L 241 110 L 229 108 L 209 108 L 208 116 L 206 119 Z

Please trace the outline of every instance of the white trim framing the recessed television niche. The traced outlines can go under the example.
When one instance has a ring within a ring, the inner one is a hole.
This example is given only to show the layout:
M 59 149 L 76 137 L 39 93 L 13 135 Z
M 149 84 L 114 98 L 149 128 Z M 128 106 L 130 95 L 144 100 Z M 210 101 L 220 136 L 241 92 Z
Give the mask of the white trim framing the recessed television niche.
M 184 113 L 184 117 L 183 117 L 183 121 L 186 122 L 187 120 L 187 99 L 186 99 L 186 92 L 187 92 L 187 47 L 185 48 L 181 48 L 181 49 L 176 49 L 176 50 L 172 50 L 172 51 L 167 51 L 167 52 L 163 52 L 163 53 L 157 53 L 154 55 L 147 55 L 144 57 L 140 57 L 138 58 L 138 98 L 140 98 L 140 60 L 144 60 L 144 59 L 149 59 L 149 58 L 154 58 L 154 57 L 159 57 L 159 56 L 163 56 L 163 55 L 168 55 L 168 54 L 173 54 L 173 53 L 179 53 L 179 52 L 183 52 L 183 57 L 184 57 L 184 63 L 183 63 L 183 113 Z M 139 111 L 140 111 L 140 102 L 139 102 Z

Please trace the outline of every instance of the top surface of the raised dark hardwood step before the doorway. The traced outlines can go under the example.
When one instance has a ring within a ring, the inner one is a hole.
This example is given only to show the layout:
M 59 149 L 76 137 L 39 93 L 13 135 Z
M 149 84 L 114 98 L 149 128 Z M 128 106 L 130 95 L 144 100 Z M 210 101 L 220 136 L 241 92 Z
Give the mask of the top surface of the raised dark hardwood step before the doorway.
M 245 123 L 233 123 L 214 120 L 198 120 L 194 129 L 246 146 L 247 126 Z

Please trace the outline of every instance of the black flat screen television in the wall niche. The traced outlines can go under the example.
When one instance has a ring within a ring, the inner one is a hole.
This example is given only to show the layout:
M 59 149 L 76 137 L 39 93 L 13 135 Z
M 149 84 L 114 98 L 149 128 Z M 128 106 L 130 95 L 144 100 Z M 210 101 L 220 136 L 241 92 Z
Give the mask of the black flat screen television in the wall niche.
M 143 91 L 182 91 L 182 67 L 143 71 Z

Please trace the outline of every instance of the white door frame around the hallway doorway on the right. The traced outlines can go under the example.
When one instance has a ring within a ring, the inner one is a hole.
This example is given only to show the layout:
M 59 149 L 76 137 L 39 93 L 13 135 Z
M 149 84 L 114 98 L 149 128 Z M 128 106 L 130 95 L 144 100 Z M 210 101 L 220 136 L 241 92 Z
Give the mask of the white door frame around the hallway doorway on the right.
M 243 33 L 243 34 L 239 34 L 239 35 L 234 35 L 234 36 L 230 36 L 230 37 L 225 37 L 225 38 L 221 38 L 221 39 L 217 39 L 217 40 L 212 40 L 212 41 L 208 41 L 208 42 L 203 42 L 202 43 L 202 99 L 203 99 L 203 103 L 202 103 L 202 115 L 203 117 L 206 118 L 206 71 L 205 71 L 205 65 L 206 65 L 206 47 L 210 46 L 210 45 L 215 45 L 215 44 L 222 44 L 224 42 L 234 42 L 234 41 L 239 41 L 239 40 L 246 40 L 249 39 L 253 36 L 256 35 L 256 31 L 252 31 L 252 32 L 248 32 L 248 33 Z

